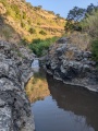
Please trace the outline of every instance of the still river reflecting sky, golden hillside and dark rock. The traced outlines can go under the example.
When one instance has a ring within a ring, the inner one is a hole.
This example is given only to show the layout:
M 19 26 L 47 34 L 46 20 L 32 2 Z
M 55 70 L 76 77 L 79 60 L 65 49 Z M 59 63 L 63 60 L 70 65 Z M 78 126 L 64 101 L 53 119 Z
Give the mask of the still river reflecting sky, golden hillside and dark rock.
M 36 131 L 98 131 L 98 94 L 36 70 L 26 85 Z

